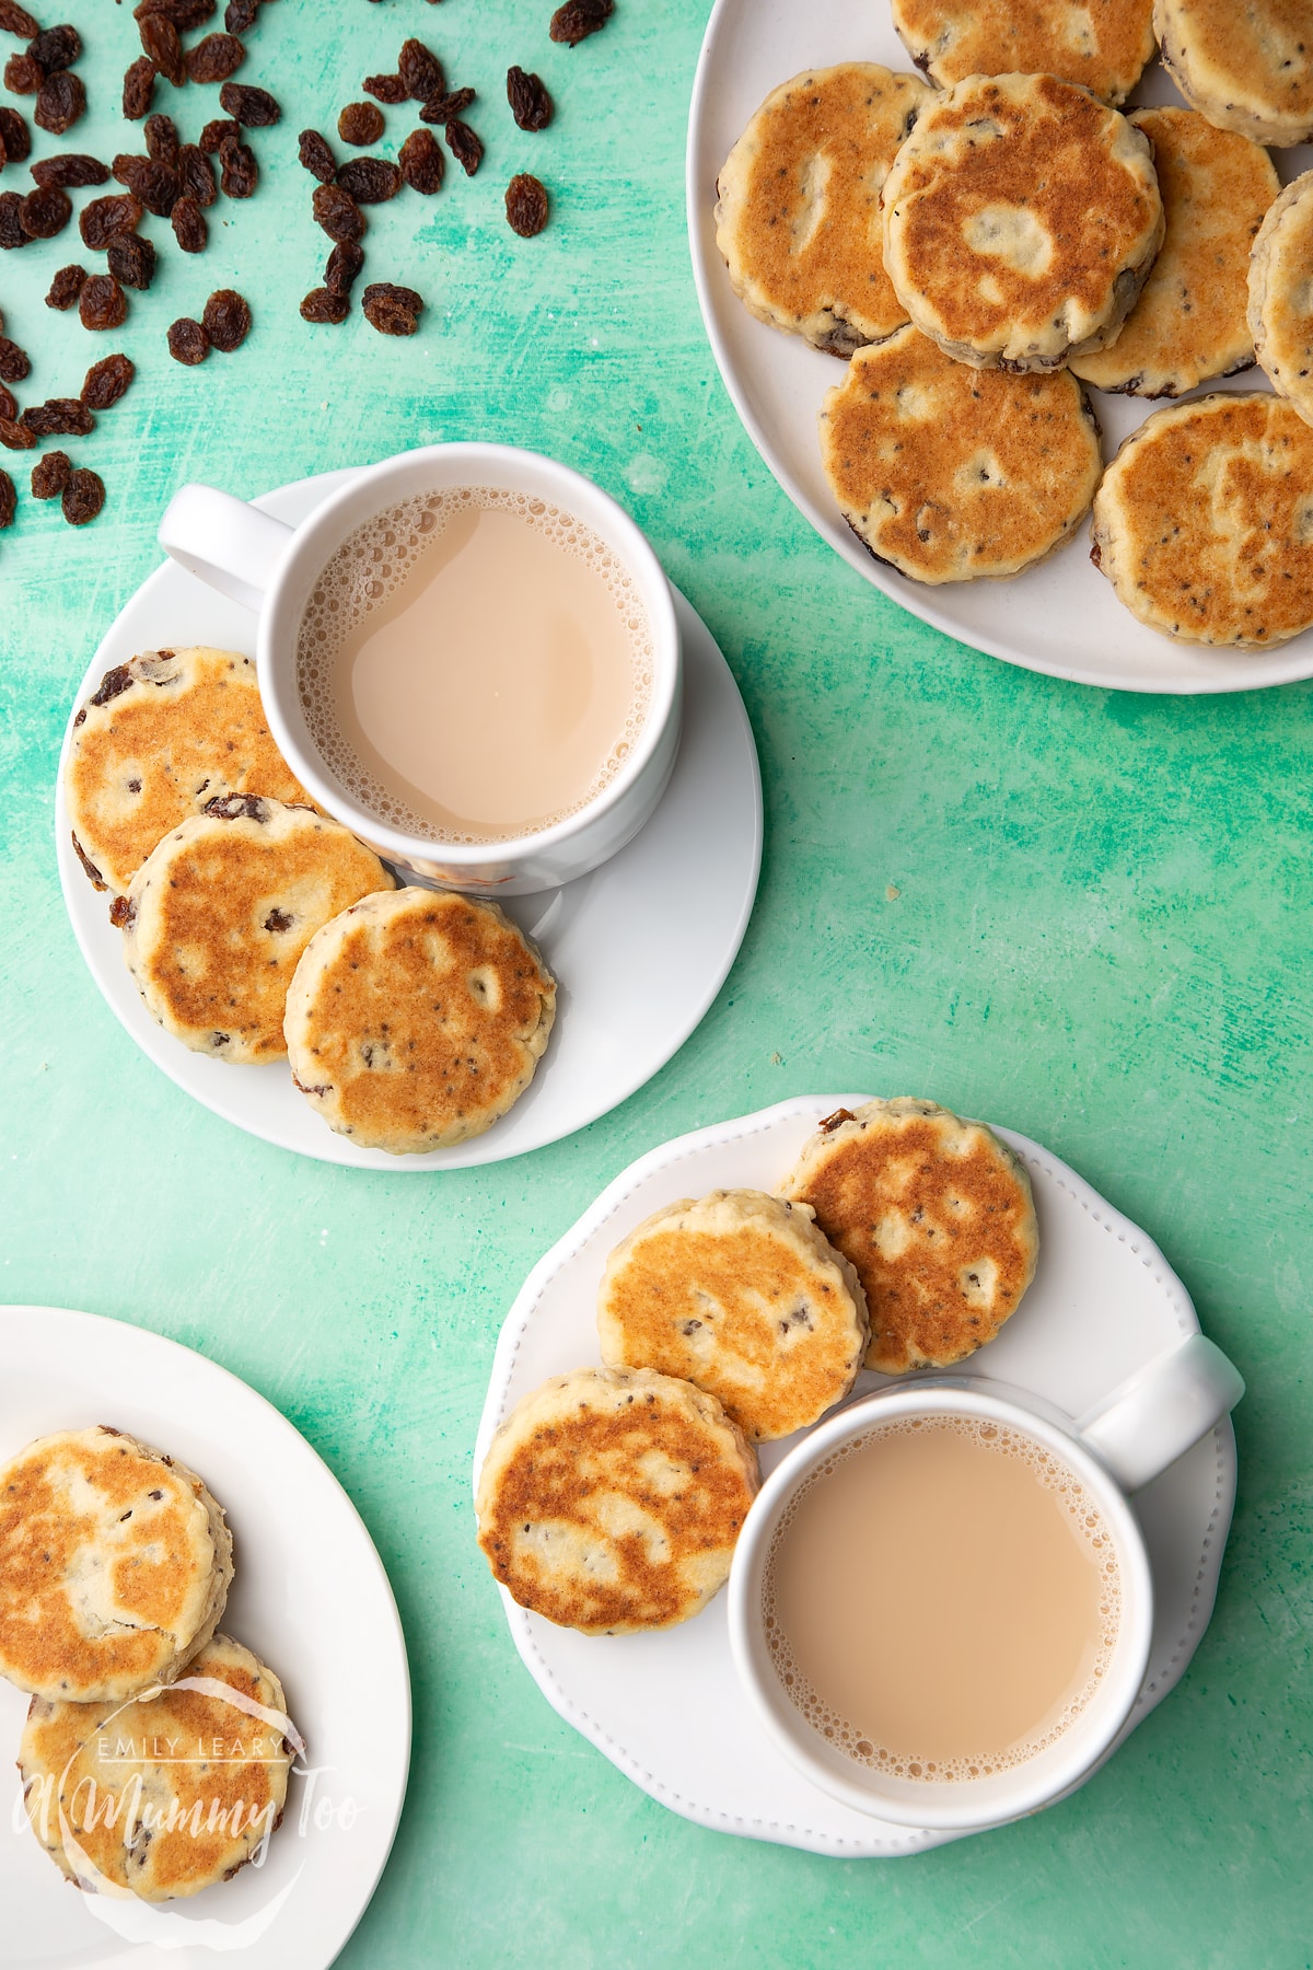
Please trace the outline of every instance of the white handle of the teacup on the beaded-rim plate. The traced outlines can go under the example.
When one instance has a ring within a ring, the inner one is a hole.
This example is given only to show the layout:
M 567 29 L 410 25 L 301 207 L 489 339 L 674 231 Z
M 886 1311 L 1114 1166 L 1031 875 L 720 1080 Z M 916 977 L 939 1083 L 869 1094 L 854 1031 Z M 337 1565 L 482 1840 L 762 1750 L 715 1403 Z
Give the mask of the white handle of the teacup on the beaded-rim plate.
M 1124 1491 L 1138 1491 L 1207 1436 L 1242 1395 L 1240 1371 L 1222 1349 L 1191 1334 L 1077 1416 L 1077 1434 Z

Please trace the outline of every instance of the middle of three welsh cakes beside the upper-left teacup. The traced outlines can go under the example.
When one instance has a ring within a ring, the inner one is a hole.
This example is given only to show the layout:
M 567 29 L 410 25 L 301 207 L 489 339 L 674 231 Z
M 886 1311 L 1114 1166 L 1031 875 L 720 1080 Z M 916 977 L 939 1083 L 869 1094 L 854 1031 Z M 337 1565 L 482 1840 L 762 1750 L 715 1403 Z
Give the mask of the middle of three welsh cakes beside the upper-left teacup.
M 165 1032 L 215 1060 L 260 1064 L 287 1052 L 287 987 L 309 940 L 390 886 L 378 855 L 339 821 L 226 794 L 146 857 L 114 922 Z

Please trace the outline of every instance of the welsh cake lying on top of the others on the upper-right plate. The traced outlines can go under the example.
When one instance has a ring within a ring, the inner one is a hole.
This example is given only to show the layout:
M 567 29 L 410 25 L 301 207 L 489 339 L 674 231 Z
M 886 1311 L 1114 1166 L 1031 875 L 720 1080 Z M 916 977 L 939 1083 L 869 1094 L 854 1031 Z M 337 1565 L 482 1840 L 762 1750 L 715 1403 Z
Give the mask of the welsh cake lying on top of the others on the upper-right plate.
M 882 205 L 898 299 L 978 368 L 1057 368 L 1112 341 L 1163 238 L 1148 138 L 1053 75 L 945 91 L 894 158 Z

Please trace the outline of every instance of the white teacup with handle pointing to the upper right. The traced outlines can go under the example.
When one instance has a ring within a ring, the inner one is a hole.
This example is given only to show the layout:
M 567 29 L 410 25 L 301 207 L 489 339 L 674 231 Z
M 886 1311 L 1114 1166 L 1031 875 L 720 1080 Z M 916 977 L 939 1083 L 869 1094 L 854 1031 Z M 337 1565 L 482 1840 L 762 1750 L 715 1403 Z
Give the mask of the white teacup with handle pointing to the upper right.
M 1136 1491 L 1205 1436 L 1244 1395 L 1226 1355 L 1195 1334 L 1159 1355 L 1079 1422 L 1039 1397 L 980 1377 L 937 1375 L 880 1389 L 819 1424 L 762 1485 L 734 1550 L 728 1621 L 734 1667 L 778 1747 L 815 1785 L 900 1826 L 996 1826 L 1077 1787 L 1114 1747 L 1140 1694 L 1154 1633 L 1154 1586 Z M 1004 1424 L 1065 1462 L 1100 1511 L 1120 1564 L 1120 1615 L 1096 1692 L 1043 1749 L 978 1779 L 904 1779 L 846 1757 L 793 1704 L 764 1629 L 766 1564 L 799 1485 L 841 1446 L 909 1416 Z

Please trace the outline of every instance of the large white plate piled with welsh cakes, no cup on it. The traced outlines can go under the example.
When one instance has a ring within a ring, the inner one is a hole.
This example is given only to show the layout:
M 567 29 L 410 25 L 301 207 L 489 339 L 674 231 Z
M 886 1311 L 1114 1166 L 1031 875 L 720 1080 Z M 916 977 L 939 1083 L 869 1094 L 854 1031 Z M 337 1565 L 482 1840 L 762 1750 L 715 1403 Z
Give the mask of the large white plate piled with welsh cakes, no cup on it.
M 713 207 L 717 171 L 764 97 L 807 67 L 835 61 L 882 61 L 911 71 L 894 33 L 888 0 L 717 0 L 693 83 L 689 112 L 689 244 L 703 321 L 724 386 L 748 437 L 793 504 L 844 561 L 925 623 L 976 650 L 1026 670 L 1116 691 L 1248 691 L 1313 676 L 1313 632 L 1280 650 L 1220 652 L 1171 642 L 1138 623 L 1091 567 L 1089 534 L 1079 528 L 1061 554 L 1016 581 L 963 581 L 927 589 L 870 558 L 839 516 L 821 471 L 817 414 L 843 370 L 835 357 L 797 335 L 754 321 L 734 297 L 717 252 Z M 1179 102 L 1159 63 L 1134 91 L 1134 102 Z M 1313 148 L 1274 152 L 1283 179 L 1307 171 Z M 1205 390 L 1266 390 L 1254 368 Z M 1205 392 L 1199 392 L 1205 394 Z M 1104 431 L 1104 457 L 1159 408 L 1134 396 L 1091 392 Z

